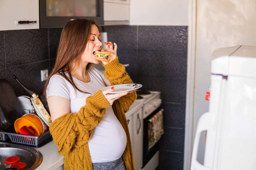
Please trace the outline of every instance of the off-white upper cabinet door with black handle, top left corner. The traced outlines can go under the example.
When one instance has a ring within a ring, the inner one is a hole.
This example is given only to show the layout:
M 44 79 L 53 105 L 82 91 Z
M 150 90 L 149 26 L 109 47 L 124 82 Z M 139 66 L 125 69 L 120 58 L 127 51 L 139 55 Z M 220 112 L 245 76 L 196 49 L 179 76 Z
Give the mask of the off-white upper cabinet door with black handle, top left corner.
M 38 0 L 1 0 L 0 3 L 0 31 L 39 29 Z M 37 23 L 17 24 L 17 21 Z

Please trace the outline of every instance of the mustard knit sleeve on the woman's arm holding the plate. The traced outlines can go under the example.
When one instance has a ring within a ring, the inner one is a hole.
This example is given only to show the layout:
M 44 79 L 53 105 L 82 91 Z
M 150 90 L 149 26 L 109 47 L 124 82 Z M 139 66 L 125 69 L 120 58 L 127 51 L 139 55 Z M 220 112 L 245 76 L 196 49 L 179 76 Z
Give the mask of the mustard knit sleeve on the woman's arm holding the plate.
M 91 138 L 93 129 L 110 107 L 108 100 L 99 90 L 86 98 L 86 105 L 78 113 L 68 113 L 57 118 L 49 127 L 60 155 L 67 155 L 73 147 L 81 147 Z

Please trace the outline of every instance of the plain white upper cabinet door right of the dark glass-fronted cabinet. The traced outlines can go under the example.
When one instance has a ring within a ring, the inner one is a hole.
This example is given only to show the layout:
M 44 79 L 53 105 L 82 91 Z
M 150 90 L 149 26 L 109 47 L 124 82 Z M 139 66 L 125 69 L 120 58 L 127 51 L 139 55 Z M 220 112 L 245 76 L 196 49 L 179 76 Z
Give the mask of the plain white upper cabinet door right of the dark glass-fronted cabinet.
M 104 2 L 104 21 L 129 20 L 129 4 Z

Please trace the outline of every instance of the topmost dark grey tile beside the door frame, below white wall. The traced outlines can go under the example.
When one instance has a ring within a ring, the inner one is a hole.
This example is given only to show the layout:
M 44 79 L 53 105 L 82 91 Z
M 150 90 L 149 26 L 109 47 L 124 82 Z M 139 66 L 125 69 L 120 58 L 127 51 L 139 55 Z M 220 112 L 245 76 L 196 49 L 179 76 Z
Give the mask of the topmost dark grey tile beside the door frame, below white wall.
M 187 51 L 187 26 L 139 26 L 139 50 Z

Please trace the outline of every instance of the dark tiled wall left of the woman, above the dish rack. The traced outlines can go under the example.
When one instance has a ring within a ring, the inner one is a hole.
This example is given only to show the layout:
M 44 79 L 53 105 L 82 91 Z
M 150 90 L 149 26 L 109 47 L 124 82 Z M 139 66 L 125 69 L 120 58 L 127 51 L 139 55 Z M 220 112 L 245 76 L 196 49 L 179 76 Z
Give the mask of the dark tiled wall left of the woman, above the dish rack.
M 40 70 L 52 70 L 62 28 L 0 31 L 0 79 L 8 80 L 16 96 L 28 92 L 13 78 L 42 94 Z

